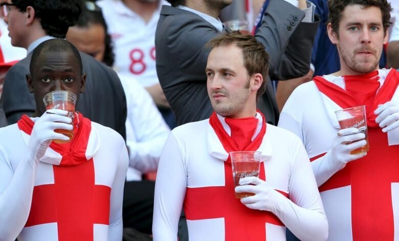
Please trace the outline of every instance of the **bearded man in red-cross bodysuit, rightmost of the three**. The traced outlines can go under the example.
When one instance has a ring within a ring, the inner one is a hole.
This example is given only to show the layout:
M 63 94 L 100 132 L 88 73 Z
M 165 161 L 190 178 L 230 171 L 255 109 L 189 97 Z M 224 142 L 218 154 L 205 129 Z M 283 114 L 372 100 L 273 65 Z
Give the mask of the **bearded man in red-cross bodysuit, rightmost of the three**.
M 399 235 L 399 74 L 379 69 L 391 6 L 386 0 L 329 1 L 328 36 L 341 69 L 299 86 L 279 122 L 311 158 L 329 223 L 328 240 L 394 240 Z M 335 111 L 365 106 L 369 151 Z

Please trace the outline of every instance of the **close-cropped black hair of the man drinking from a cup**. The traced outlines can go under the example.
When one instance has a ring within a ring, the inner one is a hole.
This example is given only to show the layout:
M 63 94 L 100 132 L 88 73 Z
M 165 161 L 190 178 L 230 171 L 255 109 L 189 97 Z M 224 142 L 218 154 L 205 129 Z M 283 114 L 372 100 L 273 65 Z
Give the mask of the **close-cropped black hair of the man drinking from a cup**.
M 32 53 L 31 64 L 29 66 L 29 71 L 31 74 L 33 70 L 36 68 L 38 63 L 38 58 L 41 56 L 43 51 L 46 52 L 70 52 L 76 58 L 78 66 L 80 68 L 80 75 L 83 73 L 83 65 L 82 65 L 82 58 L 80 57 L 79 50 L 70 42 L 60 39 L 60 38 L 53 38 L 49 39 L 41 44 L 39 44 Z

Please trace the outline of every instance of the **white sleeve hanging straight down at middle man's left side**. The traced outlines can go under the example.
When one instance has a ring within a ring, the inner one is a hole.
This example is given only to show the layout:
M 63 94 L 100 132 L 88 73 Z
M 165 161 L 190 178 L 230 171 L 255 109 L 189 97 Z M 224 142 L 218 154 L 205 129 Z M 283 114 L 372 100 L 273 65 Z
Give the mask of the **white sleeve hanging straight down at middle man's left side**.
M 171 132 L 162 151 L 155 184 L 152 221 L 154 241 L 178 239 L 178 223 L 187 187 L 183 156 L 178 140 Z

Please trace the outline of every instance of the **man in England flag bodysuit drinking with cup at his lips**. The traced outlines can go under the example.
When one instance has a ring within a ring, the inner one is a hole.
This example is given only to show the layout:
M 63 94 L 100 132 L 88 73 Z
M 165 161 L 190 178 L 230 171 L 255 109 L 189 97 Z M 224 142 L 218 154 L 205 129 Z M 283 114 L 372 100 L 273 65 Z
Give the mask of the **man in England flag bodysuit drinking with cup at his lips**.
M 79 112 L 46 111 L 43 96 L 85 84 L 78 50 L 63 39 L 34 49 L 27 75 L 33 117 L 0 129 L 1 240 L 121 240 L 126 146 L 116 131 Z M 72 125 L 73 126 L 72 126 Z M 55 129 L 74 132 L 68 140 Z

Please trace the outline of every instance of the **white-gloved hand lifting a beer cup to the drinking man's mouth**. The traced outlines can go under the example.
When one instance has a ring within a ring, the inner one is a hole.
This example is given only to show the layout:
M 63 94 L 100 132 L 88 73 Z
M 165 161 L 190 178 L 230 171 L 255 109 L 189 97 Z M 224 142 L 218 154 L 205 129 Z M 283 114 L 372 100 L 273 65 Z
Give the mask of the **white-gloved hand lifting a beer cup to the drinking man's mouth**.
M 66 117 L 66 110 L 47 110 L 35 122 L 28 143 L 28 151 L 36 162 L 45 155 L 53 139 L 69 140 L 69 137 L 57 132 L 55 129 L 72 130 L 72 119 Z

